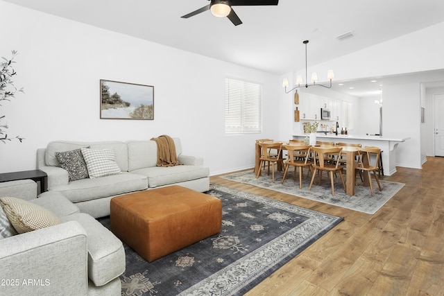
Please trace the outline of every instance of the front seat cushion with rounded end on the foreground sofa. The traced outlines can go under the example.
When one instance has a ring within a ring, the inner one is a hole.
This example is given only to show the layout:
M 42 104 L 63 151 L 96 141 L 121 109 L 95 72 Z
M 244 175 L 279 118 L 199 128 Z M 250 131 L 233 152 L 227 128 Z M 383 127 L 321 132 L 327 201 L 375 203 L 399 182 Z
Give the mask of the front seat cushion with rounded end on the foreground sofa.
M 123 244 L 99 221 L 88 214 L 63 217 L 64 222 L 76 221 L 87 233 L 88 277 L 95 286 L 103 286 L 119 277 L 126 267 Z

